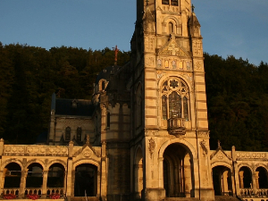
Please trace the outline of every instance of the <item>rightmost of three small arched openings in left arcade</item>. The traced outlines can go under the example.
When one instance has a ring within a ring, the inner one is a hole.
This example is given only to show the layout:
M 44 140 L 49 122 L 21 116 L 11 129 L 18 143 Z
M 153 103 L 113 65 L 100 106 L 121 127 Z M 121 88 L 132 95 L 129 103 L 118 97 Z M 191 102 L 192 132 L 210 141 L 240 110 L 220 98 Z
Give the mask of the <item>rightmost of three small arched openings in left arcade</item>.
M 54 163 L 49 167 L 48 174 L 47 174 L 47 185 L 46 186 L 47 186 L 47 188 L 63 188 L 64 187 L 64 167 L 63 167 L 63 164 Z

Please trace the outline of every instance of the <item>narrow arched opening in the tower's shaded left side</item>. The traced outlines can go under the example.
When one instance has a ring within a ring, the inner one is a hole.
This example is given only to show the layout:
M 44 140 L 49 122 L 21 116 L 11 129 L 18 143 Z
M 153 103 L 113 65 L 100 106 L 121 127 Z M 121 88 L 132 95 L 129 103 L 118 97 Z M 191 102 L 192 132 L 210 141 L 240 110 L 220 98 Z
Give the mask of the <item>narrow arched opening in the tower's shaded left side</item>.
M 136 159 L 134 163 L 134 187 L 135 187 L 135 198 L 141 198 L 141 190 L 143 189 L 143 157 L 142 151 L 138 148 L 136 153 Z

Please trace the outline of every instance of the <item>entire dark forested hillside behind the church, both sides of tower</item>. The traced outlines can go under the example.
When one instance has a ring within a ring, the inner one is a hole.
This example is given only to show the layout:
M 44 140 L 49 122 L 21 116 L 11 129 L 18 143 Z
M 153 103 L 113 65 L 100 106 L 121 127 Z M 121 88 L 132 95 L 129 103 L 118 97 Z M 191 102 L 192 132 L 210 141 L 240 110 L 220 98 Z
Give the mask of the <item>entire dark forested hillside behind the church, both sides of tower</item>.
M 118 53 L 118 64 L 130 52 Z M 51 95 L 90 98 L 96 74 L 113 65 L 113 50 L 0 43 L 0 138 L 32 144 L 47 130 Z M 268 151 L 268 64 L 205 54 L 211 148 Z

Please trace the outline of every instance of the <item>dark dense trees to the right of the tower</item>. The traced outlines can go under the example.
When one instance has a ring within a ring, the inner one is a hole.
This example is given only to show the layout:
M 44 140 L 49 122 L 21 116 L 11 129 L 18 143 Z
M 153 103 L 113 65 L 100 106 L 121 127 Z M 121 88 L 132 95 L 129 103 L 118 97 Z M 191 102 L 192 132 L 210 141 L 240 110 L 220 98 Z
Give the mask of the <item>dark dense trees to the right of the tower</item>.
M 268 64 L 205 54 L 210 145 L 268 151 Z

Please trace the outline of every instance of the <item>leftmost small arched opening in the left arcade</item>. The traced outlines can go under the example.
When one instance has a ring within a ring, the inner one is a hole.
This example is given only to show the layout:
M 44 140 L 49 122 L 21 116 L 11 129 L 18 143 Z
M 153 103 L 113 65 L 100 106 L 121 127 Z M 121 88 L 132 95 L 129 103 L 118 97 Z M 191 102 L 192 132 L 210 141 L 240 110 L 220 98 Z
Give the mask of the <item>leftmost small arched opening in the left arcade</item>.
M 20 184 L 21 184 L 21 166 L 18 163 L 7 164 L 4 167 L 4 188 L 20 188 Z M 18 193 L 13 192 L 13 194 Z

